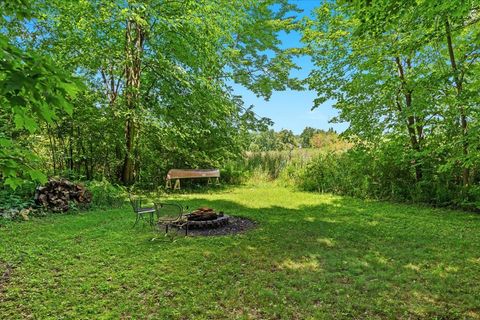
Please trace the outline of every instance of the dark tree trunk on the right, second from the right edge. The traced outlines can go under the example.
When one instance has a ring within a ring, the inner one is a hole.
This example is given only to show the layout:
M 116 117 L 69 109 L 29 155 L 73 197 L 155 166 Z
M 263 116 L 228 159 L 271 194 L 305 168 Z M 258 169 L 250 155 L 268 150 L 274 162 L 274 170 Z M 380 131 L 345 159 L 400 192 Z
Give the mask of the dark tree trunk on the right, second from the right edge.
M 410 113 L 412 109 L 413 92 L 411 89 L 407 87 L 405 71 L 403 69 L 403 65 L 402 65 L 402 61 L 400 60 L 400 57 L 395 57 L 395 63 L 397 64 L 398 77 L 400 78 L 400 81 L 402 83 L 401 92 L 405 99 L 405 111 L 407 113 Z M 410 67 L 410 61 L 407 61 L 407 65 Z M 402 103 L 400 102 L 398 97 L 397 97 L 396 104 L 397 104 L 398 111 L 403 112 L 404 109 L 402 108 Z M 418 122 L 417 117 L 415 117 L 413 114 L 407 114 L 406 125 L 407 125 L 408 135 L 410 137 L 410 145 L 412 146 L 412 149 L 415 150 L 416 152 L 421 151 L 420 143 L 423 139 L 423 126 Z M 419 163 L 418 159 L 414 159 L 413 165 L 415 168 L 415 180 L 419 182 L 423 177 L 422 166 Z

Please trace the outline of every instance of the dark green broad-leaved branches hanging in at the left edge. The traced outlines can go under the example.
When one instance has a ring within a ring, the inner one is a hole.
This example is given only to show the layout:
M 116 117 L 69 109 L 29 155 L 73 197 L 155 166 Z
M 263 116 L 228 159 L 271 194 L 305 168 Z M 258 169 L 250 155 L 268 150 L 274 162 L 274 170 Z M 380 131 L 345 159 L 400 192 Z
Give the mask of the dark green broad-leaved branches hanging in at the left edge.
M 0 24 L 10 19 L 32 18 L 33 10 L 22 0 L 0 1 Z M 8 18 L 7 18 L 8 16 Z M 78 84 L 47 57 L 24 50 L 0 34 L 0 178 L 15 189 L 25 179 L 43 183 L 37 156 L 29 150 L 28 139 L 40 122 L 52 123 L 58 114 L 72 113 L 69 99 Z

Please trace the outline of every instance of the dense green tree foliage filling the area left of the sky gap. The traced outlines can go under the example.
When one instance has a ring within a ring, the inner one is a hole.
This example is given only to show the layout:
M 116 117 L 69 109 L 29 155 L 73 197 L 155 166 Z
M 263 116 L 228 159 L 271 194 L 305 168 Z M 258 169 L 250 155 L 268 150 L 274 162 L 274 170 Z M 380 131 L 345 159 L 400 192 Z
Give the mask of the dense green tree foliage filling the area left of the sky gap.
M 2 177 L 12 186 L 21 166 L 35 168 L 28 172 L 39 182 L 48 174 L 144 187 L 161 184 L 171 167 L 220 167 L 267 121 L 243 107 L 229 83 L 264 97 L 299 88 L 289 78 L 292 52 L 277 39 L 297 27 L 288 17 L 295 8 L 283 0 L 2 6 L 9 11 L 1 20 L 0 93 L 9 104 L 2 103 L 0 142 L 10 159 Z M 12 141 L 28 145 L 38 163 L 20 161 L 25 151 Z

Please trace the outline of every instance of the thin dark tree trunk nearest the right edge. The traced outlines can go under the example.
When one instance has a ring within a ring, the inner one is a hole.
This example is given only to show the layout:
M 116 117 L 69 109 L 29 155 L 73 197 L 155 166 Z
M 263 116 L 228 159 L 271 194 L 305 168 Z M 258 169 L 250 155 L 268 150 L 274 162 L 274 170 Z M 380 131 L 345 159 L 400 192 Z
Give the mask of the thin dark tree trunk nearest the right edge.
M 447 37 L 447 46 L 448 46 L 448 56 L 450 58 L 450 66 L 452 68 L 453 73 L 453 80 L 455 81 L 455 89 L 457 91 L 457 98 L 460 98 L 462 91 L 463 91 L 463 79 L 461 79 L 458 75 L 458 67 L 457 61 L 455 59 L 455 52 L 453 51 L 453 41 L 452 41 L 452 33 L 450 28 L 450 23 L 448 19 L 445 19 L 445 34 Z M 468 156 L 468 141 L 467 141 L 467 116 L 465 113 L 465 107 L 463 103 L 460 102 L 460 125 L 462 131 L 462 152 L 465 158 Z M 466 159 L 465 159 L 466 160 Z M 462 180 L 463 185 L 466 186 L 469 184 L 470 181 L 470 170 L 469 168 L 463 164 L 462 165 Z

